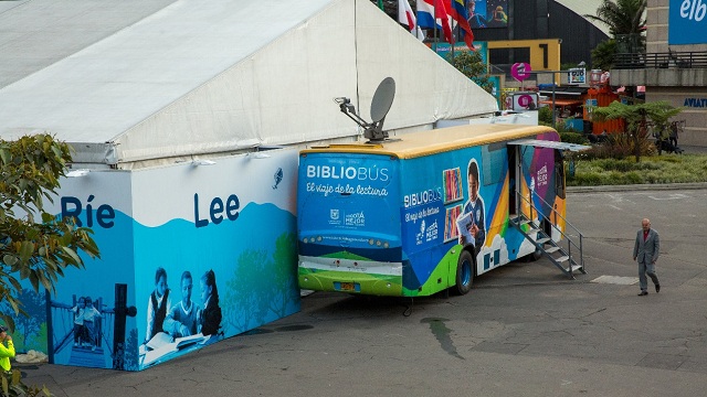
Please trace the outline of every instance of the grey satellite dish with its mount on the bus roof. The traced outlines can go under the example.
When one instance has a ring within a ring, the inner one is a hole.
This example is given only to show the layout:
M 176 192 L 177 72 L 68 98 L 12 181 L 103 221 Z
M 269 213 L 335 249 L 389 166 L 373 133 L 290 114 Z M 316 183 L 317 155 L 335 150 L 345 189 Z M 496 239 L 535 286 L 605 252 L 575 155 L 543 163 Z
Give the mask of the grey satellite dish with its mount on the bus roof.
M 351 105 L 349 98 L 339 97 L 334 101 L 339 105 L 339 109 L 354 120 L 357 125 L 363 128 L 363 137 L 370 142 L 380 142 L 388 138 L 388 132 L 383 131 L 383 121 L 386 115 L 390 110 L 390 106 L 393 104 L 395 97 L 395 81 L 392 77 L 386 77 L 376 88 L 373 99 L 371 100 L 371 119 L 372 122 L 367 122 L 359 115 L 356 114 L 356 107 Z

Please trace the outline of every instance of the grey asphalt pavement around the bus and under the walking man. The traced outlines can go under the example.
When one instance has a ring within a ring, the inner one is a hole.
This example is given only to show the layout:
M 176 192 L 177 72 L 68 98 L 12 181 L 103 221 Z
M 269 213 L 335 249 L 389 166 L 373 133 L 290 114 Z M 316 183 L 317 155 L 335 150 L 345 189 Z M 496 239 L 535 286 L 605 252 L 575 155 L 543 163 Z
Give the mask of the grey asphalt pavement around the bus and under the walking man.
M 683 187 L 570 192 L 589 270 L 573 281 L 539 260 L 464 297 L 314 293 L 297 314 L 139 373 L 21 368 L 60 397 L 703 396 L 707 185 Z M 644 216 L 662 236 L 663 290 L 637 297 Z

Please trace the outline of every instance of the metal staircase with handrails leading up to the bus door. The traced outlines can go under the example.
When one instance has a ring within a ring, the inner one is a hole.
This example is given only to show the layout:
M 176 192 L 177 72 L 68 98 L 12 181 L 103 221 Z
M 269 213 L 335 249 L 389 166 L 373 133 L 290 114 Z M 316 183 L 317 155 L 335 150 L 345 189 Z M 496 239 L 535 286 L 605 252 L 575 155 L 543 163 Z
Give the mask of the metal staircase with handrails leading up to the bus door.
M 542 197 L 535 192 L 531 192 L 531 195 L 538 198 L 538 202 L 540 202 L 545 208 L 551 210 L 549 216 L 545 216 L 542 211 L 536 208 L 532 204 L 534 200 L 516 192 L 517 207 L 516 214 L 509 217 L 510 225 L 532 243 L 537 251 L 550 259 L 555 266 L 571 279 L 574 279 L 574 272 L 577 271 L 585 275 L 587 270 L 584 269 L 584 257 L 582 255 L 582 233 L 562 217 L 562 215 L 542 200 Z M 521 203 L 525 203 L 525 205 Z M 526 210 L 527 213 L 525 213 L 524 210 Z M 558 218 L 564 221 L 564 232 L 555 226 Z M 552 236 L 548 235 L 544 227 L 541 227 L 544 221 L 550 225 L 551 230 L 560 234 L 559 242 L 553 240 Z

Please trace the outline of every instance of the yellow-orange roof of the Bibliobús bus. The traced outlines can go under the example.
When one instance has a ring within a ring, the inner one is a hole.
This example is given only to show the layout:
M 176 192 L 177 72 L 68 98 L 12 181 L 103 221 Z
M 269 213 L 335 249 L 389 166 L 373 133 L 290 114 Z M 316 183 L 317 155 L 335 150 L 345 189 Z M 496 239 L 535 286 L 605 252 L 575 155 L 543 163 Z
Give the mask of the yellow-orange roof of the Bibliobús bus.
M 300 151 L 304 153 L 341 152 L 387 154 L 399 159 L 412 159 L 434 153 L 468 148 L 493 142 L 537 136 L 542 132 L 555 132 L 546 126 L 523 125 L 468 125 L 434 130 L 402 133 L 399 138 L 376 143 L 333 143 L 313 147 Z

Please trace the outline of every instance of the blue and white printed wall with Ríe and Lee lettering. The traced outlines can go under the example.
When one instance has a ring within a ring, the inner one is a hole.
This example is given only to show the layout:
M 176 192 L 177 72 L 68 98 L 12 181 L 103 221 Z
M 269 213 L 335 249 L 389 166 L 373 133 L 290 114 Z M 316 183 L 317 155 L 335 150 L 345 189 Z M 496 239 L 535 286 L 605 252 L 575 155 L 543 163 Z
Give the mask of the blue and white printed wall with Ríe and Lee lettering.
M 51 299 L 51 362 L 139 371 L 298 311 L 296 172 L 282 150 L 63 181 L 101 258 Z

